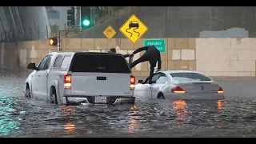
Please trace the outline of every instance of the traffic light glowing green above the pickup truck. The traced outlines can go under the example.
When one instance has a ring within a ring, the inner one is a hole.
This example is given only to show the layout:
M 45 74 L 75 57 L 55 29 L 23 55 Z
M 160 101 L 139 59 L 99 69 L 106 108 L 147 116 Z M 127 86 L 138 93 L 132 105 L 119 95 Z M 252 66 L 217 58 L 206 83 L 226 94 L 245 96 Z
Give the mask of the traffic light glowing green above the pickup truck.
M 81 6 L 81 27 L 89 28 L 91 26 L 90 22 L 90 6 Z

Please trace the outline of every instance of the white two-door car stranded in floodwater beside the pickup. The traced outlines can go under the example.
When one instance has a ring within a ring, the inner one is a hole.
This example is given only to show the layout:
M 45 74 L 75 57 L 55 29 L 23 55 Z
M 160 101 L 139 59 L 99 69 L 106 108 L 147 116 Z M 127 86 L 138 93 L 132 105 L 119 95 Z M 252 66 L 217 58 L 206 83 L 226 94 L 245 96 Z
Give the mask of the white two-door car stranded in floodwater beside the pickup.
M 206 75 L 192 70 L 158 71 L 150 85 L 138 80 L 134 96 L 158 99 L 224 99 L 222 87 Z

